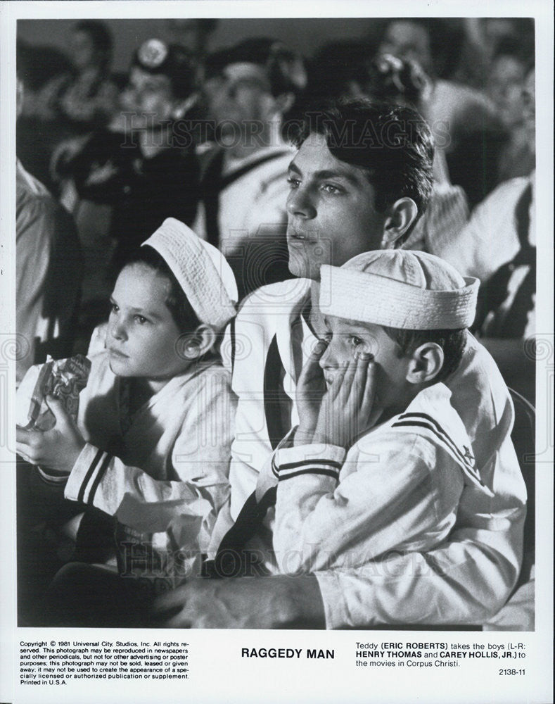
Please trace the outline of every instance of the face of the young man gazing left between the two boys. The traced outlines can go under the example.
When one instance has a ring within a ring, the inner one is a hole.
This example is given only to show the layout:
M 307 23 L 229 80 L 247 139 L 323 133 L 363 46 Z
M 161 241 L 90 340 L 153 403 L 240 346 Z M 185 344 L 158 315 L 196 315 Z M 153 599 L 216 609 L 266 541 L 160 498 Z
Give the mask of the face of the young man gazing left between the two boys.
M 385 213 L 374 208 L 374 187 L 362 169 L 339 161 L 326 137 L 310 134 L 289 165 L 289 270 L 319 280 L 322 264 L 341 266 L 381 249 Z

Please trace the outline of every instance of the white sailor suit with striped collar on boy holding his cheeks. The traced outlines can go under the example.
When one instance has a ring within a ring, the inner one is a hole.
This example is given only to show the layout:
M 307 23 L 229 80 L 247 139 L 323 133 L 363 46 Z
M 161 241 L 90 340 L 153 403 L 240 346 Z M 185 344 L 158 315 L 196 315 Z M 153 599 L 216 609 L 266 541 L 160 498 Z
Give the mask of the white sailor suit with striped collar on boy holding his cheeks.
M 276 451 L 281 572 L 352 569 L 392 551 L 428 551 L 451 532 L 464 484 L 491 494 L 450 397 L 442 383 L 423 389 L 348 451 L 326 444 Z

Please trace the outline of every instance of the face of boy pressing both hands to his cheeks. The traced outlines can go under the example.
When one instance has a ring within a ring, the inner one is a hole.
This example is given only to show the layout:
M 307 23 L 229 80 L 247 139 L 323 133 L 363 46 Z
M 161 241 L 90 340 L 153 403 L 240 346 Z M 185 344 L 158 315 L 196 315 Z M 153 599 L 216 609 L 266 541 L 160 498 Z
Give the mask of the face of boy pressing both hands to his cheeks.
M 329 330 L 328 346 L 320 359 L 326 386 L 343 365 L 355 355 L 369 353 L 376 363 L 376 396 L 374 408 L 400 412 L 408 406 L 412 384 L 407 382 L 409 358 L 400 357 L 397 344 L 385 334 L 380 325 L 355 322 L 328 315 L 325 318 Z

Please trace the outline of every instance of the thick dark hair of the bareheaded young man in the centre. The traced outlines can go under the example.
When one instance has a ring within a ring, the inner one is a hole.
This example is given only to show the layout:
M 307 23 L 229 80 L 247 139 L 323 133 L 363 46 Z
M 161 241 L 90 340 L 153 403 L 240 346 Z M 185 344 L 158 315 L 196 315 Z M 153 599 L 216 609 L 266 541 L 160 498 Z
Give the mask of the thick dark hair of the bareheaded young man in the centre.
M 300 148 L 314 133 L 326 137 L 339 161 L 364 170 L 378 212 L 405 196 L 416 203 L 419 215 L 426 210 L 433 187 L 433 136 L 415 110 L 364 98 L 339 99 L 307 110 L 293 144 Z

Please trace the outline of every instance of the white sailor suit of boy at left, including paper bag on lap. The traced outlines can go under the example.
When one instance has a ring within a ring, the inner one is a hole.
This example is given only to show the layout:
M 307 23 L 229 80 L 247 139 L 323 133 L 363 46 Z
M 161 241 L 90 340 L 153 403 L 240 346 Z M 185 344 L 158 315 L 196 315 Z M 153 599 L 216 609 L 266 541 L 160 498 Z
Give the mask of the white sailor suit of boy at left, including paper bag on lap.
M 129 416 L 126 379 L 110 370 L 106 351 L 90 358 L 77 423 L 87 444 L 65 498 L 117 519 L 120 573 L 179 583 L 200 573 L 229 496 L 229 372 L 217 361 L 193 365 Z

